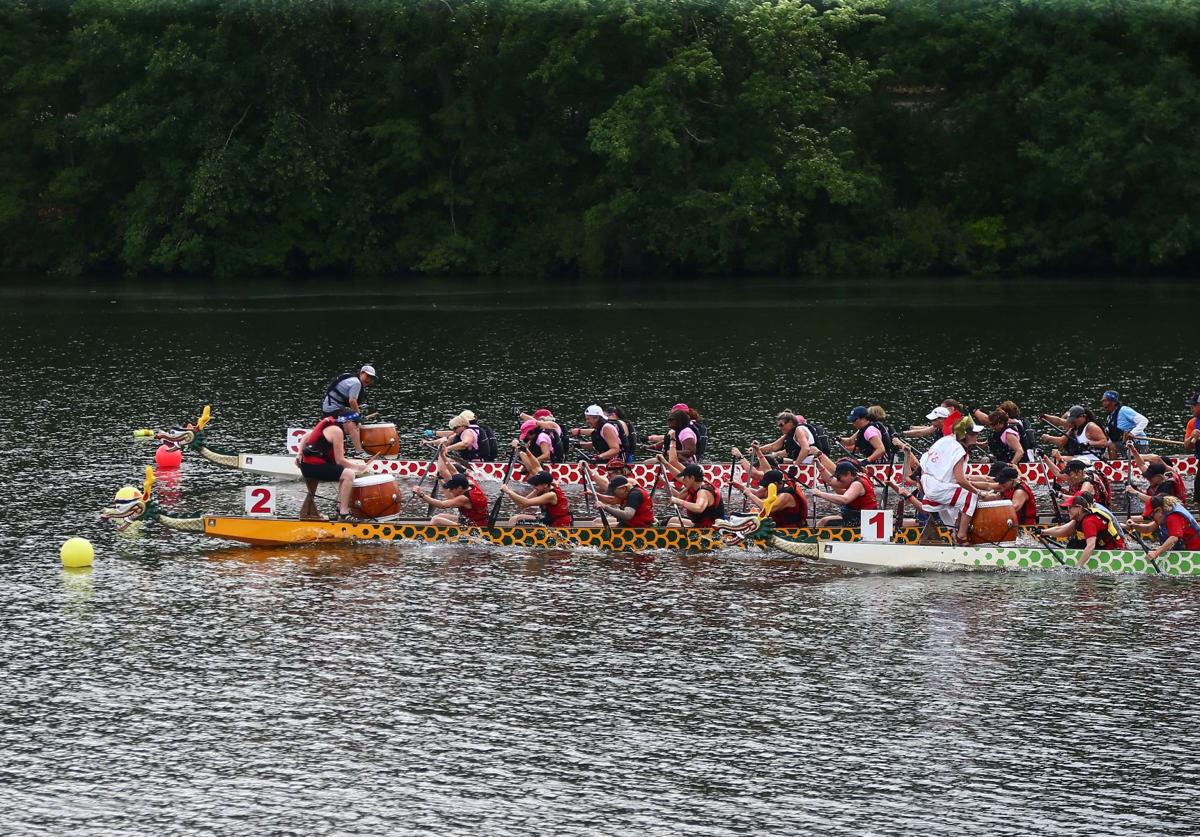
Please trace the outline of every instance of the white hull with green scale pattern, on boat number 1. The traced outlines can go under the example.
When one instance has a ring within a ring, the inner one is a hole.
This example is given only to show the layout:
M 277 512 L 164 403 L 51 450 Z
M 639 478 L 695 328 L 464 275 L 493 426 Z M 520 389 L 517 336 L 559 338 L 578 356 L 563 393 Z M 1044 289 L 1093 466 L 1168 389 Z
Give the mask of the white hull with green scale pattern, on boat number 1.
M 1115 574 L 1200 576 L 1200 552 L 1174 552 L 1158 559 L 1160 573 L 1140 549 L 1096 550 L 1079 567 L 1081 549 L 1060 549 L 1067 567 Z M 864 572 L 962 570 L 1062 570 L 1054 554 L 1040 547 L 955 547 L 904 543 L 845 543 L 821 540 L 818 560 Z

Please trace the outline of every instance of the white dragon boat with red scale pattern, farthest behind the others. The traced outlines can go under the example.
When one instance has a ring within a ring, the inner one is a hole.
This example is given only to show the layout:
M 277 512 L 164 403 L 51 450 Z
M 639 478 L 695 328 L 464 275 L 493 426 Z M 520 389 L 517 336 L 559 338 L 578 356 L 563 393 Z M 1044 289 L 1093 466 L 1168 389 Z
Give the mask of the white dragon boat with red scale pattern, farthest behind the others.
M 294 452 L 287 454 L 240 453 L 211 446 L 208 441 L 208 432 L 205 429 L 211 420 L 211 409 L 205 407 L 196 422 L 169 429 L 134 430 L 134 435 L 154 439 L 168 447 L 193 451 L 206 460 L 224 468 L 236 468 L 250 474 L 283 480 L 300 478 L 300 469 L 296 468 Z M 289 438 L 289 441 L 292 440 Z M 1129 474 L 1129 466 L 1126 462 L 1099 462 L 1096 466 L 1114 482 L 1124 481 Z M 368 468 L 372 474 L 388 474 L 400 478 L 420 480 L 430 476 L 436 470 L 436 464 L 428 459 L 380 457 L 371 460 Z M 476 477 L 497 481 L 504 478 L 504 462 L 473 462 L 469 463 L 469 468 Z M 718 486 L 726 484 L 732 476 L 736 476 L 733 466 L 730 463 L 706 463 L 702 468 L 704 469 L 704 476 Z M 967 474 L 970 476 L 984 476 L 988 472 L 988 468 L 986 463 L 971 463 L 967 465 Z M 1175 459 L 1175 468 L 1183 476 L 1194 475 L 1196 472 L 1196 458 L 1177 457 Z M 868 469 L 875 477 L 883 482 L 898 480 L 901 475 L 901 466 L 896 464 L 869 465 Z M 554 463 L 548 465 L 547 470 L 563 486 L 582 486 L 586 482 L 583 466 L 578 463 Z M 1042 463 L 1021 463 L 1019 470 L 1022 478 L 1031 486 L 1045 486 L 1049 482 L 1048 470 Z M 634 478 L 638 481 L 654 480 L 656 471 L 658 465 L 653 462 L 634 463 L 632 465 Z M 797 466 L 794 478 L 804 484 L 814 484 L 817 480 L 817 466 Z

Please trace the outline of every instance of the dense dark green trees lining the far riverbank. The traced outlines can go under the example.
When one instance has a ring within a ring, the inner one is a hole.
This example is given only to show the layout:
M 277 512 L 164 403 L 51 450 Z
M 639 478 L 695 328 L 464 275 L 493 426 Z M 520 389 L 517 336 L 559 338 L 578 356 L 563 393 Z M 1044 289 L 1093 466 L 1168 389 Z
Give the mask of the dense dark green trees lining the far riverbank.
M 1194 270 L 1200 0 L 0 0 L 0 266 Z

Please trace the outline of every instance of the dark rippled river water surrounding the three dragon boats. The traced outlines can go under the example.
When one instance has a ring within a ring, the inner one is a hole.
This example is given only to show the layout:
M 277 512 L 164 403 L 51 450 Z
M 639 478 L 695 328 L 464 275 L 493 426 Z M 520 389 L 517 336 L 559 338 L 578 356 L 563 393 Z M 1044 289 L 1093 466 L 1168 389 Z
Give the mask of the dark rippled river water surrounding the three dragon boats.
M 784 407 L 907 423 L 947 395 L 1040 411 L 1116 386 L 1178 436 L 1193 336 L 1147 339 L 1118 290 L 8 293 L 0 832 L 1194 833 L 1192 580 L 252 549 L 96 520 L 149 462 L 131 428 L 212 403 L 215 441 L 276 452 L 362 360 L 404 432 L 611 398 L 654 423 L 683 398 L 727 445 Z M 252 480 L 188 459 L 163 483 L 235 511 Z M 92 571 L 59 567 L 71 535 Z

